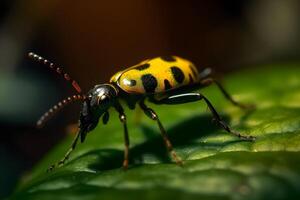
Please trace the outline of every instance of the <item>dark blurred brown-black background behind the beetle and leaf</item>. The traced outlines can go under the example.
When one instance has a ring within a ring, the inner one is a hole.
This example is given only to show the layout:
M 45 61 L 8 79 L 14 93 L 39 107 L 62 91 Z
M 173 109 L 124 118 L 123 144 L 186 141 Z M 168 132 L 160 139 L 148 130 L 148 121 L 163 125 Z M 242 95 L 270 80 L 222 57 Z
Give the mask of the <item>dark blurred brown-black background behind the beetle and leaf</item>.
M 61 64 L 82 89 L 120 69 L 179 55 L 219 74 L 299 61 L 297 0 L 1 0 L 0 198 L 68 131 L 78 105 L 38 130 L 35 121 L 73 92 L 29 51 Z M 266 75 L 267 76 L 267 75 Z

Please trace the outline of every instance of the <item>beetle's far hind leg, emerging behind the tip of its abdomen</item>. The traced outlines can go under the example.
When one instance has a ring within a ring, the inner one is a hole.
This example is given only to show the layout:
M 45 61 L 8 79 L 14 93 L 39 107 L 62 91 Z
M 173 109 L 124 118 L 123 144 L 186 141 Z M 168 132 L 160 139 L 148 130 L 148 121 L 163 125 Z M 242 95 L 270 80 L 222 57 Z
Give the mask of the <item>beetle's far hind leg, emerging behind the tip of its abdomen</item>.
M 232 96 L 225 90 L 225 88 L 222 86 L 222 84 L 219 81 L 217 81 L 213 78 L 206 78 L 206 79 L 201 80 L 201 82 L 200 82 L 200 84 L 204 85 L 204 86 L 209 86 L 213 83 L 215 83 L 218 86 L 218 88 L 221 90 L 221 92 L 225 96 L 225 98 L 227 100 L 229 100 L 233 105 L 238 106 L 242 109 L 253 109 L 253 108 L 255 108 L 255 106 L 252 105 L 252 104 L 242 104 L 242 103 L 239 103 L 236 100 L 234 100 L 232 98 Z

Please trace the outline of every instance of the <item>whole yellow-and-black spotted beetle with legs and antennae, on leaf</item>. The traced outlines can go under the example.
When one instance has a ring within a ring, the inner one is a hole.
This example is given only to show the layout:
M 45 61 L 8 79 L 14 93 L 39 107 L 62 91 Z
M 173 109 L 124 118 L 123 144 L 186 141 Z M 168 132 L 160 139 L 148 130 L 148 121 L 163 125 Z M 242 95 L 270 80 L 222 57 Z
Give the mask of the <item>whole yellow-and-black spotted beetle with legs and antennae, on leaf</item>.
M 231 128 L 221 120 L 221 117 L 213 107 L 211 102 L 201 93 L 195 92 L 199 88 L 215 83 L 226 99 L 233 105 L 242 109 L 249 108 L 248 105 L 235 101 L 224 87 L 211 76 L 211 69 L 205 68 L 200 73 L 195 65 L 183 58 L 177 56 L 161 56 L 153 59 L 145 60 L 137 65 L 129 67 L 112 76 L 109 83 L 95 85 L 87 94 L 82 94 L 79 84 L 70 77 L 70 75 L 61 67 L 56 66 L 43 57 L 30 52 L 29 58 L 42 63 L 53 69 L 57 74 L 62 76 L 66 81 L 70 82 L 77 94 L 60 101 L 46 112 L 37 122 L 37 126 L 41 127 L 49 120 L 57 111 L 74 101 L 81 101 L 82 108 L 80 112 L 78 132 L 71 144 L 70 149 L 65 156 L 56 164 L 50 166 L 52 170 L 56 166 L 63 165 L 69 158 L 71 152 L 75 149 L 80 138 L 81 142 L 85 141 L 87 133 L 92 131 L 98 124 L 99 119 L 106 124 L 109 120 L 108 109 L 113 107 L 119 113 L 120 122 L 124 127 L 124 161 L 123 168 L 128 168 L 129 164 L 129 136 L 126 124 L 126 115 L 120 100 L 123 100 L 130 109 L 134 109 L 136 105 L 150 119 L 155 121 L 159 127 L 161 136 L 167 147 L 167 150 L 173 157 L 174 161 L 182 165 L 182 160 L 177 156 L 170 142 L 168 135 L 156 112 L 148 107 L 145 100 L 154 104 L 183 104 L 203 100 L 212 113 L 213 119 L 228 133 L 231 133 L 240 139 L 253 141 L 255 137 L 250 135 L 241 135 L 232 131 Z

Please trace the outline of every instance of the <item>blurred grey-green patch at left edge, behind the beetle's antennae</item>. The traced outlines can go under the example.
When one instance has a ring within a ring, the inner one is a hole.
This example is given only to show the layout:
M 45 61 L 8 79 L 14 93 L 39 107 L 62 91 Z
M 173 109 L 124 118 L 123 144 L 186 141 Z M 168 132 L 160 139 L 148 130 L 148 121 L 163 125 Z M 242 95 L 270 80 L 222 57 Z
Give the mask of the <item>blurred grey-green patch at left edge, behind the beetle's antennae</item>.
M 47 93 L 43 94 L 45 88 Z M 0 73 L 0 121 L 14 126 L 34 124 L 39 113 L 49 104 L 41 99 L 55 101 L 56 95 L 53 84 L 35 73 Z

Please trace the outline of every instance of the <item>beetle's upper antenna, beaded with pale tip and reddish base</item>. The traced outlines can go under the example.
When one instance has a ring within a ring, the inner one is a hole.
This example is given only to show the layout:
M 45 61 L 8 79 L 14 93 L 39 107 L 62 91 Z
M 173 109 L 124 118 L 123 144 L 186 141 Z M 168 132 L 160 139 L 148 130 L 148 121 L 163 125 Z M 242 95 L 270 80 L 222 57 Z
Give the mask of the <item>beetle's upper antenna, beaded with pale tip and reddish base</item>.
M 54 70 L 57 74 L 62 76 L 66 81 L 70 82 L 72 87 L 78 93 L 81 93 L 82 90 L 81 90 L 79 84 L 74 79 L 72 79 L 68 73 L 64 72 L 64 70 L 61 67 L 56 66 L 51 61 L 43 58 L 42 56 L 39 56 L 39 55 L 33 53 L 33 52 L 28 53 L 28 57 L 38 63 L 48 66 L 50 69 Z

